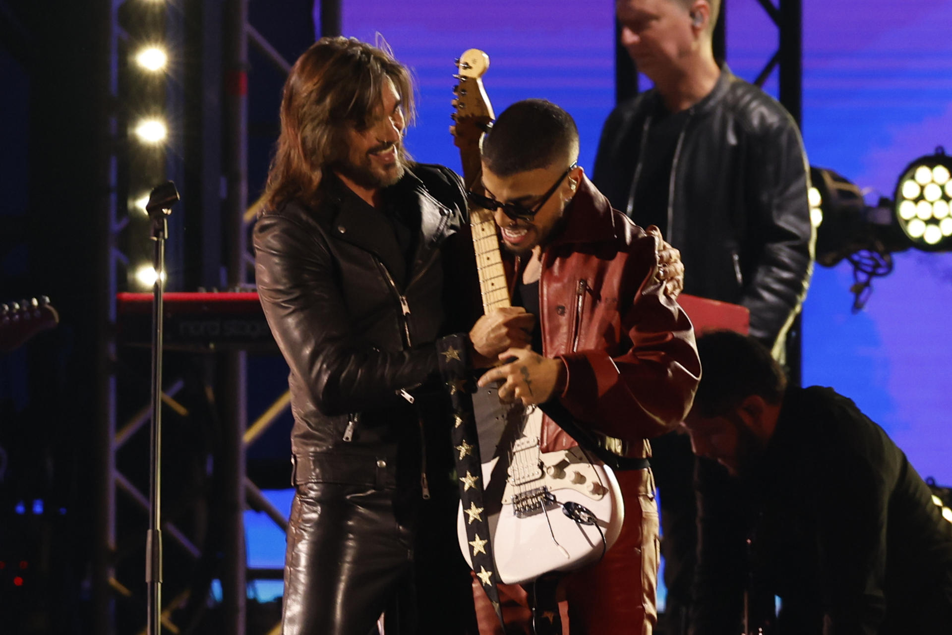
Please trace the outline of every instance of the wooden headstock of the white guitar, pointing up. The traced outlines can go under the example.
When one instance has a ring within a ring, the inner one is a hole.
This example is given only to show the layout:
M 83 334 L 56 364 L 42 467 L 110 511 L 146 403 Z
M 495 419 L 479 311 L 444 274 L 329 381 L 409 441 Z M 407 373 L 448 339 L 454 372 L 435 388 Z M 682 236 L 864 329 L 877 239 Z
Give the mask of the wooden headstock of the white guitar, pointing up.
M 453 75 L 459 84 L 453 87 L 453 107 L 456 111 L 452 118 L 456 122 L 449 132 L 461 151 L 479 151 L 480 139 L 492 126 L 496 115 L 483 87 L 483 73 L 489 68 L 489 56 L 479 49 L 466 50 L 456 60 L 457 74 Z M 478 155 L 477 155 L 478 156 Z

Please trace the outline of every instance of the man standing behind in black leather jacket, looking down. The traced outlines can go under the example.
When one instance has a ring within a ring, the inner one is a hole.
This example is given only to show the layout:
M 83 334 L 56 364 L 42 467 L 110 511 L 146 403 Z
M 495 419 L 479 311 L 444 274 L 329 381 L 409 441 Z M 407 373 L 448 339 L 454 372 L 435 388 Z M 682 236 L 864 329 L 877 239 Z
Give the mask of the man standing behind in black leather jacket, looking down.
M 720 0 L 619 0 L 622 44 L 654 83 L 605 121 L 593 181 L 656 225 L 684 260 L 684 292 L 750 310 L 750 334 L 783 360 L 813 260 L 808 172 L 783 107 L 714 59 Z M 684 632 L 696 530 L 683 435 L 653 444 L 661 492 L 667 630 Z M 717 479 L 712 466 L 701 469 Z M 724 488 L 729 487 L 725 483 Z M 729 494 L 727 494 L 729 495 Z

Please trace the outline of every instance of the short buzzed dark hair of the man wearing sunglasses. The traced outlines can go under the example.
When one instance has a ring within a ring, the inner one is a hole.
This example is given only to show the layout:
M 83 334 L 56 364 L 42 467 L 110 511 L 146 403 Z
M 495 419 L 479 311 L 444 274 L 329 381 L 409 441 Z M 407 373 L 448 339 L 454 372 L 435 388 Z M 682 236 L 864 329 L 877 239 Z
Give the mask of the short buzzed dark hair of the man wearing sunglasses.
M 526 99 L 503 110 L 483 141 L 486 168 L 501 177 L 547 168 L 562 157 L 574 163 L 578 155 L 575 120 L 545 99 Z

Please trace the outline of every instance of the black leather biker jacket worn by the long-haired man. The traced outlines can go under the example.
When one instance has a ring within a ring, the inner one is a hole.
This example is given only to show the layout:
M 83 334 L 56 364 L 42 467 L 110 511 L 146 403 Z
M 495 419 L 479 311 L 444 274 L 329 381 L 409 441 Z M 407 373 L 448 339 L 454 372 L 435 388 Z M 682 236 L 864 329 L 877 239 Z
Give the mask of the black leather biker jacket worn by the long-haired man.
M 295 485 L 419 484 L 426 410 L 446 399 L 419 387 L 436 377 L 438 335 L 462 325 L 444 308 L 459 306 L 444 302 L 446 283 L 460 287 L 447 254 L 471 253 L 459 177 L 414 165 L 386 190 L 417 235 L 409 263 L 383 212 L 355 196 L 328 177 L 320 205 L 268 210 L 254 228 L 258 294 L 290 367 Z M 411 390 L 423 398 L 411 404 Z

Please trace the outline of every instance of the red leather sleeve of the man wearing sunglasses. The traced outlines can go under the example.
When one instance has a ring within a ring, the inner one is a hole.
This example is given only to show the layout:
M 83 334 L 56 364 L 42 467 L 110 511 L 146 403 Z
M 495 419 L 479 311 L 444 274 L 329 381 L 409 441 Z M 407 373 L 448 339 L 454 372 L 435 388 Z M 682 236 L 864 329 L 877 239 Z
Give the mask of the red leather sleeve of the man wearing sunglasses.
M 640 441 L 684 420 L 701 363 L 690 321 L 658 281 L 656 239 L 643 233 L 630 249 L 625 281 L 634 288 L 623 295 L 630 306 L 619 308 L 630 346 L 614 357 L 605 350 L 559 357 L 568 370 L 562 403 L 572 415 L 608 436 Z

